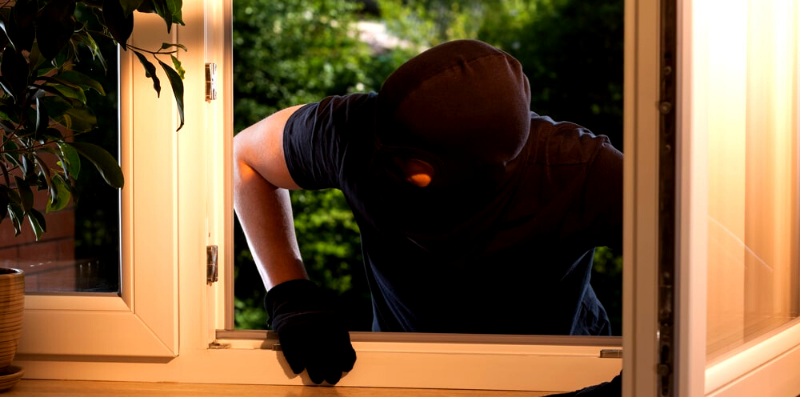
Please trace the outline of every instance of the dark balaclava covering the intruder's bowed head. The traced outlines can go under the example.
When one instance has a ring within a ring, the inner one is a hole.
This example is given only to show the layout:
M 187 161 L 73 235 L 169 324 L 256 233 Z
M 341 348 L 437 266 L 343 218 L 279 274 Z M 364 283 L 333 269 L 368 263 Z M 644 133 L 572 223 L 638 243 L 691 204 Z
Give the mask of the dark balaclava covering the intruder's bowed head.
M 509 54 L 457 40 L 412 58 L 378 93 L 373 172 L 382 213 L 429 250 L 490 229 L 527 159 L 530 118 L 528 79 Z M 406 182 L 393 158 L 433 165 L 431 184 Z

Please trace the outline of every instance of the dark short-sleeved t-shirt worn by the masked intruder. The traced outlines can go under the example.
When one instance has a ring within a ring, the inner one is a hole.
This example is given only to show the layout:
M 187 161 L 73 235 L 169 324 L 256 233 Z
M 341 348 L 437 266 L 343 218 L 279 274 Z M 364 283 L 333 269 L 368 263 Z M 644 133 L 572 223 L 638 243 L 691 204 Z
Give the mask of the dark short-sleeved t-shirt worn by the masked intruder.
M 340 189 L 358 222 L 373 330 L 610 334 L 589 279 L 595 247 L 621 248 L 622 153 L 605 136 L 531 112 L 512 197 L 486 209 L 479 232 L 464 226 L 437 234 L 441 244 L 420 243 L 395 227 L 375 179 L 376 99 L 325 98 L 284 131 L 294 181 Z

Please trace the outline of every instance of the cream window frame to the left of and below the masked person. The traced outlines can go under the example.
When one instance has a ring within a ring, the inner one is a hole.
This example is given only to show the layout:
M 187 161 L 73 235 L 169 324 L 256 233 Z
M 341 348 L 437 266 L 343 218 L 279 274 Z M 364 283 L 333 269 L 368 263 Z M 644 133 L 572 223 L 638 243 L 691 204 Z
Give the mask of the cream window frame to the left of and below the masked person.
M 29 297 L 17 357 L 27 378 L 309 382 L 305 375 L 287 376 L 282 354 L 270 349 L 263 332 L 217 338 L 230 319 L 225 308 L 232 307 L 232 291 L 225 288 L 233 263 L 230 8 L 230 0 L 186 2 L 186 26 L 173 26 L 172 35 L 160 34 L 158 17 L 137 14 L 137 46 L 168 41 L 189 48 L 179 54 L 186 69 L 186 124 L 175 132 L 166 80 L 156 99 L 141 66 L 123 52 L 123 142 L 133 142 L 122 148 L 123 294 Z M 219 76 L 212 101 L 204 92 L 209 62 Z M 626 178 L 628 168 L 626 162 Z M 219 281 L 210 285 L 207 245 L 222 253 Z M 141 341 L 137 332 L 150 340 Z M 619 349 L 620 338 L 592 344 L 581 338 L 354 333 L 353 340 L 358 362 L 340 386 L 567 391 L 608 381 L 622 364 L 600 357 L 602 350 Z

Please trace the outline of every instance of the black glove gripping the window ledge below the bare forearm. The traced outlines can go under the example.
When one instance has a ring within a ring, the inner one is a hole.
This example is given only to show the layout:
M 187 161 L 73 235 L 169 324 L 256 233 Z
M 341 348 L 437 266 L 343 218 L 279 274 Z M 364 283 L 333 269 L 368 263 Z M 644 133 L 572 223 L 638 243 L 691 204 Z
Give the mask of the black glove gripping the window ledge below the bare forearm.
M 310 280 L 290 280 L 267 292 L 268 323 L 295 374 L 308 370 L 311 381 L 335 384 L 353 369 L 356 352 L 350 334 Z

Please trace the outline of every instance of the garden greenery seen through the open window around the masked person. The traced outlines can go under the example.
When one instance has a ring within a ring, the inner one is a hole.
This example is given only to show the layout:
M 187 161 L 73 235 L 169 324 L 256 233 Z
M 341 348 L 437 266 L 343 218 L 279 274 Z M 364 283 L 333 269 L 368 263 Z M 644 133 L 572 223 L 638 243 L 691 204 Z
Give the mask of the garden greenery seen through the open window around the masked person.
M 623 9 L 622 0 L 234 0 L 234 130 L 328 95 L 377 92 L 420 51 L 472 38 L 523 64 L 535 112 L 607 135 L 622 150 Z M 292 204 L 310 278 L 338 297 L 351 330 L 371 330 L 358 226 L 343 195 L 297 191 Z M 615 335 L 622 329 L 620 254 L 598 249 L 591 276 Z M 264 287 L 238 220 L 235 260 L 236 328 L 263 328 Z

